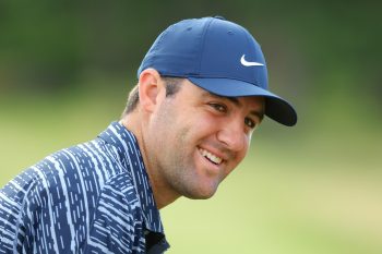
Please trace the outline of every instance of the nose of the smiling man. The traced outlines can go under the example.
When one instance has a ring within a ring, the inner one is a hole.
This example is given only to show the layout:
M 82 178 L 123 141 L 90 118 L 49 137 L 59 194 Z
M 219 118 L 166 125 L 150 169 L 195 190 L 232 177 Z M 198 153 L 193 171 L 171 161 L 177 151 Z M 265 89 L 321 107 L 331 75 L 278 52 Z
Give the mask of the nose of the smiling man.
M 249 136 L 244 132 L 244 123 L 238 119 L 230 119 L 217 133 L 217 140 L 228 149 L 240 152 L 248 146 Z

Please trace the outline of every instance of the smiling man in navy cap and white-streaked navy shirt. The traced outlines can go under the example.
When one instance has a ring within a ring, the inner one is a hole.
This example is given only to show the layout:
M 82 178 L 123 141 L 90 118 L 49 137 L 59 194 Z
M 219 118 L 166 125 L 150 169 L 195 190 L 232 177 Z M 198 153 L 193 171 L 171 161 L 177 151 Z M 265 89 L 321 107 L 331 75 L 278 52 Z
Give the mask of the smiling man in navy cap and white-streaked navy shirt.
M 138 77 L 119 122 L 0 191 L 0 253 L 163 253 L 160 208 L 213 196 L 264 116 L 297 122 L 259 44 L 222 17 L 169 26 Z

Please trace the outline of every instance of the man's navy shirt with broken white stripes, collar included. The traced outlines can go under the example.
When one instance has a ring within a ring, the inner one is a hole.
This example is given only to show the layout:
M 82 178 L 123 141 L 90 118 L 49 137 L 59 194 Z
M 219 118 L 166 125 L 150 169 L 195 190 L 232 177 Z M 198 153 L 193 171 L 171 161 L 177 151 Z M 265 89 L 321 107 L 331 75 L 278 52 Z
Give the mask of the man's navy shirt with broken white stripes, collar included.
M 163 253 L 168 249 L 133 134 L 118 122 L 0 190 L 0 253 Z

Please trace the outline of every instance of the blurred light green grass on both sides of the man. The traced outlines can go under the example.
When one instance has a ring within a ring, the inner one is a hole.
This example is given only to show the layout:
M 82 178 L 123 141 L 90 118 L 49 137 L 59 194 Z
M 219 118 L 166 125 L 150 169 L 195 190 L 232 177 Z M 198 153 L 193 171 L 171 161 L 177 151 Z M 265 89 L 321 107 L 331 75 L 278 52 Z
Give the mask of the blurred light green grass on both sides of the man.
M 95 89 L 1 98 L 0 185 L 51 152 L 94 138 L 118 119 L 124 97 Z M 213 198 L 164 208 L 168 253 L 382 253 L 382 136 L 367 121 L 343 114 L 339 124 L 332 113 L 320 128 L 311 116 L 290 130 L 265 122 Z

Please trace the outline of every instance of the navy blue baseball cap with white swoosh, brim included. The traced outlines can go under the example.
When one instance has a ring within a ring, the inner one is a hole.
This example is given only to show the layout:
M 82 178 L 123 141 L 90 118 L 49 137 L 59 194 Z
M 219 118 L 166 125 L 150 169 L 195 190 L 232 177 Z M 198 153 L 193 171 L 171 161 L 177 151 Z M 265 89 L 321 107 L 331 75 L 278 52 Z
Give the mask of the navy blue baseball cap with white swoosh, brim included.
M 180 21 L 154 41 L 138 70 L 153 68 L 163 76 L 186 77 L 225 97 L 262 96 L 265 116 L 287 126 L 297 122 L 294 107 L 271 93 L 260 45 L 242 26 L 223 17 Z

